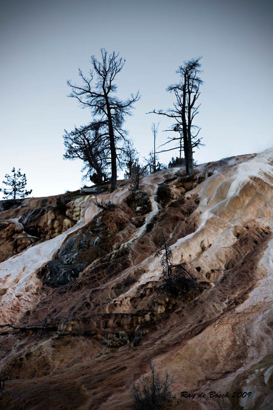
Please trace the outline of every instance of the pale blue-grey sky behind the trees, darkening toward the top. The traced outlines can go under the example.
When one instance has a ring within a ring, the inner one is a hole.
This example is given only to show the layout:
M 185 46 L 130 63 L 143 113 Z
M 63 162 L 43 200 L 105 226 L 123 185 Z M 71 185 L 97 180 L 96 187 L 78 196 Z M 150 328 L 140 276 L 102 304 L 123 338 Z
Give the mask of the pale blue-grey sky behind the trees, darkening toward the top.
M 126 60 L 117 96 L 141 94 L 125 123 L 140 158 L 153 148 L 152 122 L 160 121 L 157 146 L 172 136 L 163 132 L 171 120 L 146 113 L 172 107 L 166 87 L 179 81 L 184 60 L 199 56 L 204 84 L 195 124 L 205 146 L 194 154 L 197 163 L 272 147 L 272 11 L 265 0 L 3 3 L 0 187 L 12 167 L 26 173 L 31 196 L 88 183 L 80 161 L 62 158 L 64 129 L 92 119 L 68 98 L 66 81 L 80 84 L 78 68 L 88 73 L 100 48 Z M 176 154 L 160 154 L 160 161 Z

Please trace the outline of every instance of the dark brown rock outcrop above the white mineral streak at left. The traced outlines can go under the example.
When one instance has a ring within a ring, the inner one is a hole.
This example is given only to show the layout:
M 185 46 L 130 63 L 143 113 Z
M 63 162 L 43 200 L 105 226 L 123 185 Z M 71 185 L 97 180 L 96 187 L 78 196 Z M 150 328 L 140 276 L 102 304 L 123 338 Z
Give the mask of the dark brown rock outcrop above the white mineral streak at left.
M 73 227 L 79 219 L 73 219 L 75 207 L 79 203 L 83 208 L 86 199 L 76 194 L 0 201 L 0 261 Z

